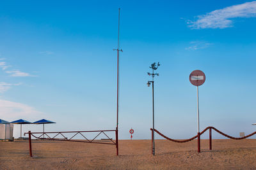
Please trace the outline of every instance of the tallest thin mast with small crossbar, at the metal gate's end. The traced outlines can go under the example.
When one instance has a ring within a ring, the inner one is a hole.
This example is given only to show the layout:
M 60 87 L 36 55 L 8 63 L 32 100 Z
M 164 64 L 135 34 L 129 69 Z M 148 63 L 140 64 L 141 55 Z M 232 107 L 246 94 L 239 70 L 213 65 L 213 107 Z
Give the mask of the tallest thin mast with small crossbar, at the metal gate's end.
M 118 9 L 118 38 L 117 38 L 117 86 L 116 86 L 116 155 L 118 155 L 118 113 L 119 113 L 119 30 L 120 30 L 120 8 Z

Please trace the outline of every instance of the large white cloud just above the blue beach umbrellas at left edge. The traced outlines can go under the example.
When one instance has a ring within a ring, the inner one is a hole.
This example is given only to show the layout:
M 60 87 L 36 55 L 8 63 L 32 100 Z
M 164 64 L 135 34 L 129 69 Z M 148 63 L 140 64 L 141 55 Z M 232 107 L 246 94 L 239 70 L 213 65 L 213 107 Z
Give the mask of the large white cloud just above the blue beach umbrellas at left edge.
M 4 120 L 13 121 L 20 118 L 30 120 L 40 115 L 43 115 L 43 113 L 35 110 L 35 108 L 31 106 L 0 99 L 0 117 Z

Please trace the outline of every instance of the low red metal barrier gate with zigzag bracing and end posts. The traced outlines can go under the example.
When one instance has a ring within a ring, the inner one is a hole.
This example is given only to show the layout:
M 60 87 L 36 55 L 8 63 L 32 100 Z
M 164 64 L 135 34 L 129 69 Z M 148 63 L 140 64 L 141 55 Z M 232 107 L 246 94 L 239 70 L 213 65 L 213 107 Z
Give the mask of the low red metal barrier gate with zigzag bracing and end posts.
M 93 139 L 86 138 L 85 134 L 88 132 L 96 132 L 97 135 Z M 109 136 L 106 134 L 106 132 L 115 132 L 116 139 L 113 140 L 112 138 L 109 138 Z M 28 131 L 25 134 L 28 134 L 29 136 L 29 154 L 30 157 L 32 157 L 32 145 L 31 145 L 31 136 L 33 136 L 36 139 L 44 139 L 44 140 L 53 140 L 53 141 L 72 141 L 72 142 L 83 142 L 83 143 L 98 143 L 98 144 L 106 144 L 106 145 L 116 145 L 116 155 L 118 155 L 118 131 L 117 130 L 104 130 L 104 131 L 69 131 L 69 132 L 31 132 Z M 50 134 L 55 134 L 53 137 L 50 137 Z M 68 138 L 67 134 L 74 134 L 72 137 Z M 74 139 L 77 135 L 81 135 L 83 139 L 77 140 Z M 104 136 L 107 137 L 107 140 L 95 140 L 100 134 L 104 134 Z M 47 136 L 47 138 L 44 138 L 44 136 Z M 61 138 L 57 138 L 58 136 L 61 136 Z M 105 142 L 104 142 L 105 141 Z M 109 143 L 110 141 L 110 143 Z

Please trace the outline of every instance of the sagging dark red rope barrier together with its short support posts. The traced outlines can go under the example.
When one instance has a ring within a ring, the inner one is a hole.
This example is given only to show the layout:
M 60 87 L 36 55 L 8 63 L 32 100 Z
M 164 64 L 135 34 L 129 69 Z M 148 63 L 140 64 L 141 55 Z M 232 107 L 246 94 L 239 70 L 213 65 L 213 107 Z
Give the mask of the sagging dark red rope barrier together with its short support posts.
M 241 137 L 241 138 L 235 138 L 235 137 L 232 137 L 232 136 L 229 136 L 221 131 L 219 131 L 218 129 L 216 129 L 215 127 L 206 127 L 204 129 L 204 131 L 200 132 L 199 133 L 199 136 L 196 135 L 196 136 L 193 136 L 192 138 L 189 138 L 189 139 L 184 139 L 184 140 L 176 140 L 176 139 L 171 139 L 171 138 L 168 138 L 167 136 L 164 136 L 164 134 L 162 134 L 161 132 L 157 131 L 156 129 L 154 129 L 155 132 L 157 132 L 157 134 L 159 134 L 160 136 L 162 136 L 163 138 L 165 139 L 168 139 L 169 141 L 173 141 L 173 142 L 177 142 L 177 143 L 185 143 L 185 142 L 189 142 L 189 141 L 192 141 L 193 139 L 195 138 L 198 138 L 200 140 L 200 136 L 202 134 L 204 134 L 204 132 L 206 132 L 207 130 L 209 129 L 209 150 L 212 150 L 212 129 L 218 133 L 220 133 L 221 135 L 227 137 L 227 138 L 230 138 L 230 139 L 235 139 L 235 140 L 241 140 L 241 139 L 245 139 L 245 138 L 249 138 L 250 136 L 253 136 L 254 134 L 256 134 L 256 132 L 253 132 L 251 134 L 248 134 L 247 136 L 244 136 L 244 137 Z M 151 128 L 150 129 L 152 131 L 152 143 L 153 143 L 153 129 Z M 153 144 L 152 144 L 153 145 Z M 198 146 L 200 147 L 200 146 Z M 152 153 L 153 153 L 153 146 L 152 146 Z

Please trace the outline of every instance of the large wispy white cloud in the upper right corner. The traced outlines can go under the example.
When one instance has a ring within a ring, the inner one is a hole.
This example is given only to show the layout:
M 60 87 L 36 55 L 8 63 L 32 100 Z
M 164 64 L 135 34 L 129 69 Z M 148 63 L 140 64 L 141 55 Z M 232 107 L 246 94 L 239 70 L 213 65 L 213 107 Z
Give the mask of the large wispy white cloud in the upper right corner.
M 224 29 L 233 26 L 231 19 L 242 17 L 256 17 L 256 1 L 228 6 L 221 10 L 211 11 L 205 15 L 198 15 L 196 21 L 189 20 L 187 24 L 192 29 Z

